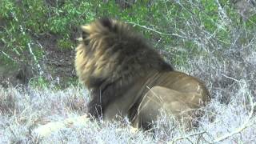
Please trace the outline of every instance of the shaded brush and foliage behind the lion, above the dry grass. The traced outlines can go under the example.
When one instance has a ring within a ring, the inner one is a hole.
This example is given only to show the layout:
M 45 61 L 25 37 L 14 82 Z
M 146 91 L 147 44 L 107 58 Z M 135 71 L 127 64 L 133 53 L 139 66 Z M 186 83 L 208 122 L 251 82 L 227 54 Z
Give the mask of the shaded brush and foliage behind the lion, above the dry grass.
M 250 12 L 250 20 L 242 21 L 241 14 L 237 13 L 239 9 L 234 10 L 238 2 L 1 1 L 2 84 L 6 85 L 6 80 L 14 85 L 54 82 L 65 87 L 77 83 L 73 59 L 79 26 L 102 16 L 130 22 L 146 38 L 152 39 L 152 43 L 174 66 L 183 66 L 188 57 L 209 54 L 209 51 L 221 58 L 223 51 L 234 45 L 232 40 L 238 33 L 244 34 L 235 39 L 234 46 L 237 47 L 250 41 L 254 34 L 244 29 L 254 30 L 255 16 Z M 228 14 L 223 18 L 218 17 L 220 7 Z M 245 11 L 242 11 L 243 15 L 248 13 Z M 226 25 L 220 25 L 220 21 L 226 21 Z M 209 42 L 200 42 L 206 39 Z M 218 45 L 222 48 L 216 50 Z M 204 52 L 206 50 L 208 52 Z

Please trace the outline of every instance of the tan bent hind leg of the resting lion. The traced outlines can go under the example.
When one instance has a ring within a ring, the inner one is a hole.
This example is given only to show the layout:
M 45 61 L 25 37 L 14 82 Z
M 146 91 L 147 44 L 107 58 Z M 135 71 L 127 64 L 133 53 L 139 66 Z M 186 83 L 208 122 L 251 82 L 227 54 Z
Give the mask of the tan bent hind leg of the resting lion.
M 192 110 L 198 108 L 200 96 L 194 93 L 183 93 L 162 86 L 154 86 L 142 99 L 134 126 L 150 129 L 151 122 L 157 121 L 161 110 L 174 115 L 182 127 L 190 129 Z M 198 101 L 198 102 L 197 102 Z

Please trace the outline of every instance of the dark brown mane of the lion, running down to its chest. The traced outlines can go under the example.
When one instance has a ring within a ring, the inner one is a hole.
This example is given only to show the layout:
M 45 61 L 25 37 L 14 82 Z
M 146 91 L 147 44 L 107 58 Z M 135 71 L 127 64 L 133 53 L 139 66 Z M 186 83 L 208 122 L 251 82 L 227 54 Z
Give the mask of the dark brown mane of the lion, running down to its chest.
M 126 23 L 102 18 L 89 26 L 82 27 L 82 45 L 87 54 L 96 54 L 94 65 L 101 62 L 102 70 L 108 70 L 107 77 L 94 73 L 88 78 L 93 100 L 89 113 L 96 116 L 104 113 L 109 102 L 118 98 L 119 93 L 129 90 L 130 85 L 143 77 L 149 70 L 170 71 L 173 68 Z M 86 55 L 87 56 L 87 55 Z M 90 56 L 90 55 L 89 55 Z M 92 59 L 93 56 L 90 56 Z M 104 74 L 104 71 L 102 71 Z

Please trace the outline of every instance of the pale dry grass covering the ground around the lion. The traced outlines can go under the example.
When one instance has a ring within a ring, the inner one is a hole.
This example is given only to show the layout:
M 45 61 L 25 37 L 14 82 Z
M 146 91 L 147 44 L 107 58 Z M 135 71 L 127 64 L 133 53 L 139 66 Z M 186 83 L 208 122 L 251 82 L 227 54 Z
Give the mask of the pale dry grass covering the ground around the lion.
M 247 50 L 246 50 L 247 51 Z M 164 115 L 157 122 L 156 133 L 130 132 L 129 122 L 88 122 L 86 126 L 70 126 L 47 138 L 32 133 L 39 124 L 72 118 L 86 111 L 88 91 L 81 87 L 66 90 L 0 87 L 0 143 L 6 142 L 86 142 L 86 143 L 251 143 L 256 138 L 255 106 L 256 53 L 226 61 L 214 57 L 190 59 L 190 66 L 181 70 L 202 78 L 210 88 L 212 101 L 202 108 L 205 114 L 198 127 L 184 131 L 172 118 Z M 213 63 L 213 62 L 217 63 Z M 210 62 L 210 63 L 208 63 Z M 226 68 L 225 63 L 233 65 Z M 193 66 L 191 64 L 193 63 Z M 247 66 L 250 65 L 250 66 Z M 218 68 L 217 68 L 218 67 Z

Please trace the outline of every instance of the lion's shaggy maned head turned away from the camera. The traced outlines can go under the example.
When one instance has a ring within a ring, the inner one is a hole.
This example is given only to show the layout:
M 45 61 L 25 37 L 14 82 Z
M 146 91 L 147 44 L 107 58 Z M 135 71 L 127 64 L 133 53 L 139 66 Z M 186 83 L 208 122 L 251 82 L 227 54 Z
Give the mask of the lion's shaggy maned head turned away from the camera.
M 172 70 L 146 39 L 126 23 L 110 18 L 82 26 L 75 67 L 81 81 L 89 87 L 99 81 L 134 78 L 152 68 Z

